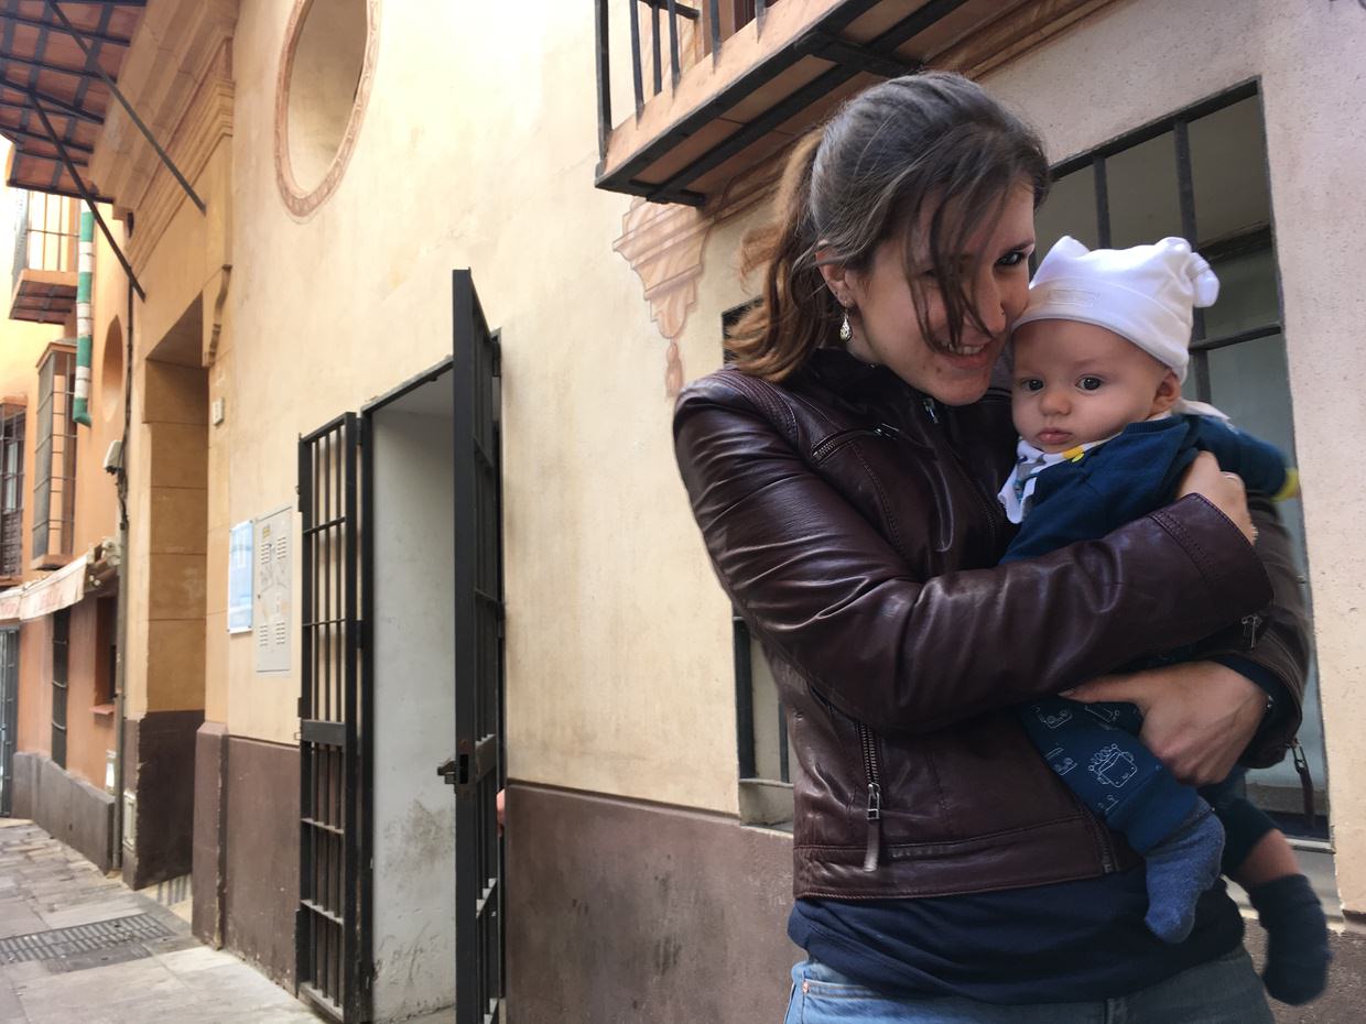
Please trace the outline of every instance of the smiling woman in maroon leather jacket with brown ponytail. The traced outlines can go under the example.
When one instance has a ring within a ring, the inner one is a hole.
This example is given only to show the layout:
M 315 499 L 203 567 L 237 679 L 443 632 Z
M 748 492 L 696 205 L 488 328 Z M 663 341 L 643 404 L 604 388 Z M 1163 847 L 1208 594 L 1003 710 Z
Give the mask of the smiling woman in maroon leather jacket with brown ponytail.
M 683 481 L 798 758 L 788 1021 L 1270 1020 L 1223 889 L 1186 942 L 1153 938 L 1138 859 L 1008 713 L 1214 636 L 1074 692 L 1137 703 L 1206 784 L 1281 756 L 1305 668 L 1284 531 L 1258 509 L 1254 553 L 1209 457 L 1173 505 L 996 565 L 1015 433 L 990 384 L 1046 186 L 1037 138 L 963 78 L 855 97 L 747 254 L 765 288 L 734 366 L 679 399 Z

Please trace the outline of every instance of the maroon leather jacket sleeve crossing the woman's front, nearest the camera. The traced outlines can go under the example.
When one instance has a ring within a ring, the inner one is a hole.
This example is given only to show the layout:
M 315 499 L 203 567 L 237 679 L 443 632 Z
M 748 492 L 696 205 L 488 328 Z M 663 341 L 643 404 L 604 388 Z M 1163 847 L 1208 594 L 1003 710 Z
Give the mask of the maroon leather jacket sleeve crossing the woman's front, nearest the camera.
M 1065 689 L 1270 599 L 1251 546 L 1195 496 L 1098 541 L 925 579 L 775 418 L 714 377 L 683 392 L 675 449 L 693 512 L 751 627 L 880 729 L 929 732 Z

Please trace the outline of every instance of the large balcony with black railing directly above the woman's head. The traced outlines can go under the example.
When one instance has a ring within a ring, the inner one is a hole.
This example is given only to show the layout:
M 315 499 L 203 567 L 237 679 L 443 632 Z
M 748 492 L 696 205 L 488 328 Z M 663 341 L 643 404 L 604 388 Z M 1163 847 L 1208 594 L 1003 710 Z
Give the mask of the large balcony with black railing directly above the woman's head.
M 596 3 L 597 187 L 701 206 L 858 90 L 985 74 L 1111 0 Z

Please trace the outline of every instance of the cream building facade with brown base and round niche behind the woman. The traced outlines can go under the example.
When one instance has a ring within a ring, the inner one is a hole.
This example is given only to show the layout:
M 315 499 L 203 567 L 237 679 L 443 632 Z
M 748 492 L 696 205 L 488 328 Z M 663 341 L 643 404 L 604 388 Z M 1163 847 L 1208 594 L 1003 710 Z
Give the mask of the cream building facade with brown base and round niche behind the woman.
M 87 162 L 142 289 L 126 877 L 190 871 L 201 937 L 347 1020 L 473 998 L 466 887 L 505 941 L 479 999 L 519 1024 L 773 1019 L 796 956 L 785 735 L 688 515 L 672 399 L 753 298 L 738 250 L 787 146 L 925 61 L 1038 126 L 1041 248 L 1182 233 L 1220 270 L 1191 389 L 1299 461 L 1298 842 L 1355 927 L 1366 567 L 1341 496 L 1366 456 L 1340 438 L 1366 429 L 1366 11 L 695 7 L 135 12 L 117 83 L 169 164 L 112 102 Z M 505 849 L 481 777 L 505 777 Z M 1298 827 L 1291 767 L 1254 785 Z

